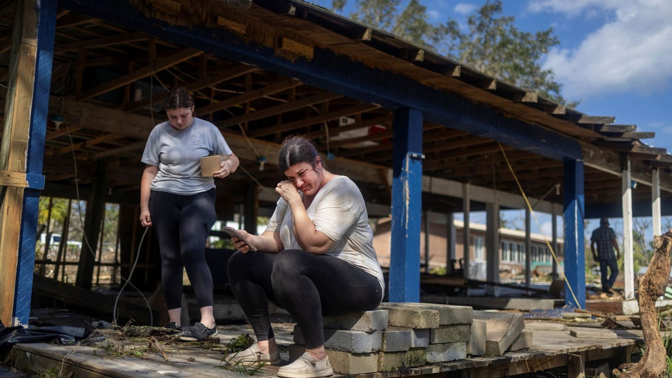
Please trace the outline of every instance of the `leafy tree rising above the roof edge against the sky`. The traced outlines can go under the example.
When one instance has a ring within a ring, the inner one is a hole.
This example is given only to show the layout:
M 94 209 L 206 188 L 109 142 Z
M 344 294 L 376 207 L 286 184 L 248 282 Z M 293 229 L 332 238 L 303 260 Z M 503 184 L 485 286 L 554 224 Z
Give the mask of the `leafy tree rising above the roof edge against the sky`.
M 346 1 L 333 0 L 333 9 L 343 9 Z M 409 1 L 404 9 L 400 5 L 401 0 L 356 0 L 357 11 L 350 17 L 569 108 L 579 104 L 562 98 L 553 71 L 541 67 L 542 57 L 559 43 L 552 28 L 534 34 L 518 30 L 515 17 L 502 15 L 501 0 L 487 0 L 470 15 L 466 32 L 452 18 L 445 24 L 429 23 L 427 7 L 419 0 Z

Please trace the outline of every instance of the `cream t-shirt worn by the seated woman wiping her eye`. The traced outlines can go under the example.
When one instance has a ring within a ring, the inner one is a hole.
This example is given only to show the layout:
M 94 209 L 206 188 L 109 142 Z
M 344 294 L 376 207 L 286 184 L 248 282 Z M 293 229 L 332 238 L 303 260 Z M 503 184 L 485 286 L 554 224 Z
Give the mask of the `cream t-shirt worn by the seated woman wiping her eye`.
M 327 254 L 358 266 L 378 278 L 381 293 L 384 293 L 385 283 L 373 245 L 374 233 L 368 223 L 360 188 L 346 176 L 337 176 L 317 192 L 306 213 L 315 229 L 334 241 Z M 292 211 L 282 198 L 278 200 L 266 231 L 280 232 L 280 240 L 286 250 L 303 249 L 294 237 Z

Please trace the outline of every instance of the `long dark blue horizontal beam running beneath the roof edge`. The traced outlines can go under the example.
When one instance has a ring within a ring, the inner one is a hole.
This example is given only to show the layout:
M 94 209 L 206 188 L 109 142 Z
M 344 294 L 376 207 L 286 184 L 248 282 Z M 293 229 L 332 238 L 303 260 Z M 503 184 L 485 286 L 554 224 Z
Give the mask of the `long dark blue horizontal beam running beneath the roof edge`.
M 296 77 L 334 93 L 376 103 L 388 109 L 413 108 L 425 120 L 465 130 L 505 145 L 556 160 L 581 159 L 581 147 L 571 138 L 506 117 L 503 113 L 474 104 L 449 91 L 434 89 L 401 74 L 389 73 L 314 47 L 310 61 L 286 59 L 273 48 L 245 41 L 222 28 L 173 26 L 151 19 L 126 1 L 62 0 L 60 7 L 120 24 L 182 46 L 198 48 L 225 59 L 241 61 Z

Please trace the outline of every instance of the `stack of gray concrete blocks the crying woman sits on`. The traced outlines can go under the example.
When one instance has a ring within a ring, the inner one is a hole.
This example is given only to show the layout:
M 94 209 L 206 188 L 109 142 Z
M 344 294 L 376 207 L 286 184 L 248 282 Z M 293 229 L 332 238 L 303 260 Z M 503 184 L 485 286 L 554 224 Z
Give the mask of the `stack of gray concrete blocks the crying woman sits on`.
M 472 308 L 382 303 L 375 311 L 324 317 L 323 326 L 325 348 L 336 373 L 398 371 L 466 358 Z M 290 359 L 304 352 L 305 341 L 298 326 L 294 343 L 289 348 Z

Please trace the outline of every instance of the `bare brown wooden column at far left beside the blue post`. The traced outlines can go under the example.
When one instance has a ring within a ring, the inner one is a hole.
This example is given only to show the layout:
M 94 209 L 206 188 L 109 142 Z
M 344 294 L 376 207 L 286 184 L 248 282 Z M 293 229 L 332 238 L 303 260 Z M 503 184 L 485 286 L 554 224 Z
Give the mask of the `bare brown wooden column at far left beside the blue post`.
M 5 100 L 5 119 L 0 146 L 0 171 L 15 176 L 15 183 L 1 182 L 0 185 L 0 320 L 5 326 L 19 324 L 15 317 L 17 305 L 17 285 L 20 261 L 24 259 L 24 248 L 19 243 L 24 206 L 28 141 L 34 97 L 36 63 L 38 57 L 39 13 L 36 3 L 30 0 L 15 2 L 15 21 L 12 34 L 11 56 L 9 59 L 9 81 Z M 48 89 L 47 89 L 48 91 Z M 3 175 L 6 176 L 6 175 Z M 37 227 L 37 223 L 33 225 Z M 32 231 L 35 233 L 35 229 Z M 33 235 L 34 261 L 35 235 Z M 21 256 L 19 256 L 19 252 Z M 32 289 L 32 276 L 19 288 L 22 295 Z M 30 309 L 30 298 L 28 299 Z M 22 309 L 23 310 L 23 309 Z

